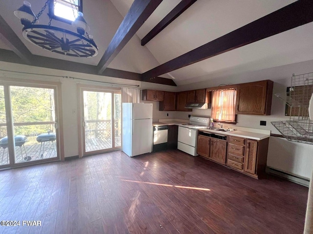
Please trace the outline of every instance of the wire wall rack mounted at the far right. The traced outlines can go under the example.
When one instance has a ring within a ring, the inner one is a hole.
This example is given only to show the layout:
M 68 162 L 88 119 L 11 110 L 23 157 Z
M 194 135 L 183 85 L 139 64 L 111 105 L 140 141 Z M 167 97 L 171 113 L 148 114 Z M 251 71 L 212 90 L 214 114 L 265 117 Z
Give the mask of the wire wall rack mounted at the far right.
M 313 120 L 309 103 L 313 94 L 313 73 L 292 75 L 289 92 L 275 94 L 287 104 L 289 120 L 271 122 L 288 140 L 313 144 Z

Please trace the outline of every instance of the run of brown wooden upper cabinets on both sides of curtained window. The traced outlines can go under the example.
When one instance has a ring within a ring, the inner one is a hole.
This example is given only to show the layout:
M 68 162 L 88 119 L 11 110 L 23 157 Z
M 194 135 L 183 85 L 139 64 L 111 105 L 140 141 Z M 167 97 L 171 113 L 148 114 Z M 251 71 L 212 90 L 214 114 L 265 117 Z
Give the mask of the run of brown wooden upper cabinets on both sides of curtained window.
M 212 92 L 216 88 L 197 89 L 184 92 L 165 92 L 158 90 L 142 90 L 142 100 L 159 101 L 160 111 L 192 111 L 186 109 L 187 103 L 207 103 L 211 108 Z M 273 93 L 273 81 L 262 80 L 250 83 L 227 85 L 223 89 L 237 89 L 236 114 L 241 115 L 270 115 Z

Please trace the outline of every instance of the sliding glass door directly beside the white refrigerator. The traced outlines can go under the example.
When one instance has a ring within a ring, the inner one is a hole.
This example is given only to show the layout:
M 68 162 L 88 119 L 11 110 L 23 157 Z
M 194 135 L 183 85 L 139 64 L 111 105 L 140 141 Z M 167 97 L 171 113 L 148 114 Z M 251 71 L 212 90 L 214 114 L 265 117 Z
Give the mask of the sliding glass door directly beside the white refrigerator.
M 82 90 L 84 155 L 121 146 L 121 94 Z

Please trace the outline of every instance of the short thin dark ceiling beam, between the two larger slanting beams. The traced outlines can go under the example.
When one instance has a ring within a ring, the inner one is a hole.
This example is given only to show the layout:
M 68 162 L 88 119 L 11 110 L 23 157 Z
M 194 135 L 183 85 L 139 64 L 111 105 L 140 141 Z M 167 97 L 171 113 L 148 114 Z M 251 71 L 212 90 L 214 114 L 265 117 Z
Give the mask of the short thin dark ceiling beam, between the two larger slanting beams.
M 156 26 L 141 40 L 141 45 L 147 44 L 151 39 L 161 32 L 167 25 L 178 18 L 185 10 L 187 10 L 197 0 L 182 0 L 179 4 L 164 17 Z

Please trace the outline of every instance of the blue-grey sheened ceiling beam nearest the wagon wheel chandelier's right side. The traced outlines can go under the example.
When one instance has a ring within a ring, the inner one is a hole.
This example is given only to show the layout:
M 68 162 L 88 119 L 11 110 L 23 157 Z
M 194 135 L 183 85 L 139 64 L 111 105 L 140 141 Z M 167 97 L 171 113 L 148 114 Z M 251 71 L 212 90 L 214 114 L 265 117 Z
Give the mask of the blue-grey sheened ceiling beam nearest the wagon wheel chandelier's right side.
M 162 0 L 134 0 L 97 67 L 100 75 L 154 12 Z

